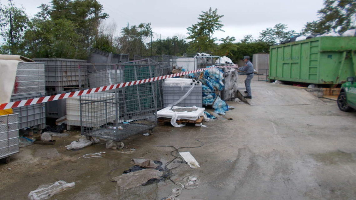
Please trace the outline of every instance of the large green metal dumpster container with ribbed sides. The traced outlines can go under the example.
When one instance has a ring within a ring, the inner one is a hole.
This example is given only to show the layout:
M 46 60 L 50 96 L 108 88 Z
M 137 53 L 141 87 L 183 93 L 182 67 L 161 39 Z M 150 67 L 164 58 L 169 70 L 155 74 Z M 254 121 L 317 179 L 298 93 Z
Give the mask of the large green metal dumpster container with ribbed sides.
M 269 80 L 341 84 L 356 74 L 356 37 L 316 37 L 271 46 Z

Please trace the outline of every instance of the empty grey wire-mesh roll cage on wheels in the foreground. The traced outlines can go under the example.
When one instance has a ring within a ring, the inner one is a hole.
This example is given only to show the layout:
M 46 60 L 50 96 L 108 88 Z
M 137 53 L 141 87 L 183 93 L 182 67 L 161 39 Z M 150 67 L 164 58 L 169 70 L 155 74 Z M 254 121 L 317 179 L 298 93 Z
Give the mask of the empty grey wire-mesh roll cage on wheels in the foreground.
M 114 82 L 112 84 L 159 75 L 158 63 L 87 65 L 103 65 L 113 69 L 114 77 L 110 77 L 110 81 Z M 106 76 L 96 78 L 96 81 L 108 82 Z M 157 89 L 157 83 L 153 81 L 79 96 L 81 134 L 121 141 L 140 132 L 152 131 L 157 124 Z

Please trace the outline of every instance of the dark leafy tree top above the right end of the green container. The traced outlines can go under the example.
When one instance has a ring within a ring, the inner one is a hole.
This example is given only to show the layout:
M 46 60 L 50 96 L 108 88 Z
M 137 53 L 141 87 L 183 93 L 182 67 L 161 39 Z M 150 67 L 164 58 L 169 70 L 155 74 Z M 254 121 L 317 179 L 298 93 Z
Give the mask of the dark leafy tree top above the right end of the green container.
M 319 19 L 307 22 L 303 34 L 326 33 L 335 31 L 342 33 L 355 28 L 355 0 L 325 0 L 324 7 L 318 11 Z

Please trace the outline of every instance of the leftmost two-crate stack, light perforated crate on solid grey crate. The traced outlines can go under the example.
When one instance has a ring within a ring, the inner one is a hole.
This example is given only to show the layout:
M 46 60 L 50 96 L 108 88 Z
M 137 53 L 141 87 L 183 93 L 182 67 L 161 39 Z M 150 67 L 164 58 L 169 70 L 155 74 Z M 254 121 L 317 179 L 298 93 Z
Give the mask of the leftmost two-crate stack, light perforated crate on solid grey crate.
M 19 63 L 17 65 L 11 101 L 35 99 L 45 96 L 45 67 L 43 63 Z M 45 105 L 33 104 L 13 109 L 19 115 L 19 128 L 37 126 L 45 128 Z

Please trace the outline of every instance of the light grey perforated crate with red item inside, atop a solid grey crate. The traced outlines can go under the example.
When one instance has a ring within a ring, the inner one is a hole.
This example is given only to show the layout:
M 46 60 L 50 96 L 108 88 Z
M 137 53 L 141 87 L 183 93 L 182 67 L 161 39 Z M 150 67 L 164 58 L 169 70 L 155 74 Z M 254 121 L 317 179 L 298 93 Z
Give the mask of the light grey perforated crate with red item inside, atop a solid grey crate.
M 27 95 L 45 92 L 44 63 L 17 64 L 16 79 L 12 95 Z

